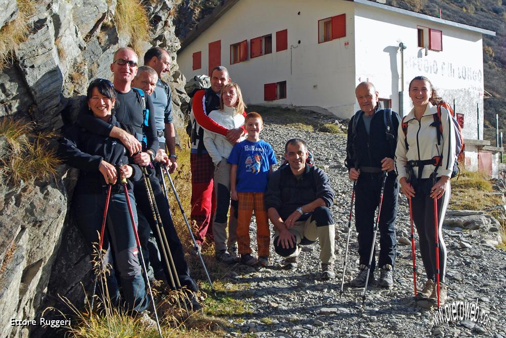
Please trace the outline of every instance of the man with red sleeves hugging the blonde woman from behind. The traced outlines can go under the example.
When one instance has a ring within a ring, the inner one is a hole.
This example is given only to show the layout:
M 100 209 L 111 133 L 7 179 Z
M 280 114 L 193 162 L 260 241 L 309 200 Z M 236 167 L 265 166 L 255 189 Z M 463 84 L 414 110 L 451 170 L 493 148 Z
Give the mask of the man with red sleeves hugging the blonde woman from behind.
M 226 136 L 232 144 L 235 144 L 245 132 L 244 127 L 227 129 L 207 116 L 213 110 L 220 109 L 221 89 L 230 81 L 227 68 L 218 66 L 211 71 L 210 87 L 196 90 L 193 95 L 190 94 L 192 96 L 192 144 L 190 154 L 192 194 L 190 218 L 192 222 L 196 222 L 198 227 L 195 240 L 199 246 L 204 243 L 205 237 L 212 239 L 212 222 L 216 210 L 216 195 L 213 184 L 215 166 L 202 141 L 204 128 Z M 230 213 L 233 215 L 232 209 Z M 237 220 L 235 217 L 230 217 L 230 221 L 236 222 Z M 234 253 L 237 252 L 237 247 L 229 248 L 229 251 L 232 252 L 232 255 L 227 250 L 217 252 L 216 259 L 224 263 L 234 262 L 236 260 Z

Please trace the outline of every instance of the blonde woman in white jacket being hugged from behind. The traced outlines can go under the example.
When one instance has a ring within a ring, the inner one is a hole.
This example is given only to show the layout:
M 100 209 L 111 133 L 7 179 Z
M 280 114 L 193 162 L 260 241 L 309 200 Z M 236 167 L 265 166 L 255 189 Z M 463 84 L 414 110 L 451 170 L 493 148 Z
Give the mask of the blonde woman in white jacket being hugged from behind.
M 220 109 L 209 113 L 209 117 L 228 129 L 239 128 L 244 124 L 242 112 L 246 105 L 242 101 L 242 93 L 237 83 L 223 86 L 220 94 Z M 241 141 L 242 138 L 239 139 Z M 204 146 L 215 164 L 214 186 L 216 192 L 216 213 L 213 220 L 215 238 L 215 257 L 224 263 L 237 260 L 237 217 L 231 213 L 227 242 L 227 215 L 230 207 L 230 167 L 227 159 L 233 144 L 223 135 L 204 129 Z M 232 255 L 227 252 L 232 253 Z

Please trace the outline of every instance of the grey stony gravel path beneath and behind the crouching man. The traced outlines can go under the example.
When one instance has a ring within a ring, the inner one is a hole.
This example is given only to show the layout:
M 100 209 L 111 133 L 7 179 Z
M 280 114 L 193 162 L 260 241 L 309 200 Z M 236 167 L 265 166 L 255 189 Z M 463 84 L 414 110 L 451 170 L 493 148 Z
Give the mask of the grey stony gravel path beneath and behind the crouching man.
M 329 117 L 309 113 L 308 119 L 329 120 Z M 448 249 L 449 297 L 452 300 L 476 303 L 488 313 L 490 326 L 471 320 L 456 320 L 449 325 L 432 325 L 435 311 L 427 310 L 413 301 L 411 246 L 398 245 L 395 285 L 392 289 L 372 286 L 368 289 L 365 306 L 361 306 L 362 288 L 345 284 L 340 298 L 349 204 L 352 184 L 344 167 L 346 135 L 304 131 L 285 125 L 283 116 L 266 115 L 261 136 L 270 142 L 278 159 L 284 142 L 293 136 L 307 140 L 315 154 L 316 165 L 323 168 L 335 191 L 332 206 L 336 221 L 336 278 L 328 282 L 319 279 L 318 244 L 303 247 L 299 267 L 293 271 L 280 269 L 281 258 L 271 245 L 271 265 L 255 270 L 236 266 L 227 277 L 232 282 L 248 283 L 249 287 L 233 292 L 251 310 L 244 320 L 231 318 L 231 336 L 260 337 L 506 337 L 506 252 L 487 246 L 478 230 L 462 231 L 444 228 Z M 398 239 L 409 238 L 409 213 L 404 198 L 399 199 L 396 221 Z M 272 234 L 271 234 L 272 235 Z M 401 240 L 402 242 L 403 240 Z M 256 251 L 256 235 L 251 227 L 251 242 Z M 464 244 L 462 244 L 462 242 Z M 356 231 L 352 225 L 350 253 L 345 282 L 358 273 Z M 417 256 L 418 273 L 423 272 Z M 379 275 L 379 273 L 376 273 Z M 424 277 L 424 278 L 423 278 Z M 425 276 L 419 275 L 422 286 Z

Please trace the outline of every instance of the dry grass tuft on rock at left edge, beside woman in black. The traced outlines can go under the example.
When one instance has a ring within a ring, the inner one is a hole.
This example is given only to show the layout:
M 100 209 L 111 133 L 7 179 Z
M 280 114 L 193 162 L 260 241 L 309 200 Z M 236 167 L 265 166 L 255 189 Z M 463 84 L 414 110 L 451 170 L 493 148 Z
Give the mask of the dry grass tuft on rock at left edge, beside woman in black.
M 0 120 L 0 136 L 9 143 L 8 155 L 0 159 L 2 180 L 18 184 L 21 181 L 46 180 L 55 177 L 60 160 L 49 147 L 54 133 L 34 133 L 33 123 L 15 121 L 12 118 Z

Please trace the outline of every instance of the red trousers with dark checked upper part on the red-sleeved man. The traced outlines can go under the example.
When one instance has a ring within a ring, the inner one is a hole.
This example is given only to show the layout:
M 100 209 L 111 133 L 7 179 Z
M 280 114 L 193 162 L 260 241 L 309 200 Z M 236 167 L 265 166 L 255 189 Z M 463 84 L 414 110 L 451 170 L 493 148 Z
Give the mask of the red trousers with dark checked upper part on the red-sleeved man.
M 190 221 L 197 224 L 195 240 L 199 245 L 205 237 L 213 242 L 213 218 L 216 210 L 216 195 L 213 190 L 215 165 L 208 154 L 190 154 L 191 169 L 191 213 Z

